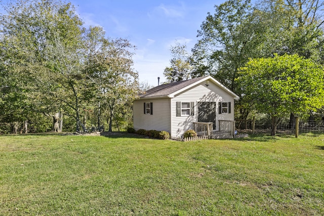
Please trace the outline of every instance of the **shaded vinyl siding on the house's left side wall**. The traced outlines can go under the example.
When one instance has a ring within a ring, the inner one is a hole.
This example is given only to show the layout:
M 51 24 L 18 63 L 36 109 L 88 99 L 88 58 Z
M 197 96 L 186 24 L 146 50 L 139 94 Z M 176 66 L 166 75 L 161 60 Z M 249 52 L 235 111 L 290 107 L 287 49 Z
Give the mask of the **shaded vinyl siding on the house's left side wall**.
M 144 114 L 144 103 L 152 103 L 152 115 Z M 137 100 L 133 105 L 134 128 L 171 132 L 170 98 Z

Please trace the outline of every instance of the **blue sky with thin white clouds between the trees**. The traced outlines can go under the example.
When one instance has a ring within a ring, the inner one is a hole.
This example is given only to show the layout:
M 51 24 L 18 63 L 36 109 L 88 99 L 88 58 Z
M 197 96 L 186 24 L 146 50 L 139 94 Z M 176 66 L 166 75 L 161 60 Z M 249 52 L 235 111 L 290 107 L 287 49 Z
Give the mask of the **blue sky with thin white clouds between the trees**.
M 224 1 L 128 1 L 72 0 L 85 26 L 100 25 L 108 37 L 128 38 L 137 47 L 134 69 L 140 82 L 157 85 L 165 81 L 163 71 L 169 66 L 170 47 L 177 40 L 186 42 L 188 51 L 197 41 L 197 30 L 214 13 L 214 6 Z

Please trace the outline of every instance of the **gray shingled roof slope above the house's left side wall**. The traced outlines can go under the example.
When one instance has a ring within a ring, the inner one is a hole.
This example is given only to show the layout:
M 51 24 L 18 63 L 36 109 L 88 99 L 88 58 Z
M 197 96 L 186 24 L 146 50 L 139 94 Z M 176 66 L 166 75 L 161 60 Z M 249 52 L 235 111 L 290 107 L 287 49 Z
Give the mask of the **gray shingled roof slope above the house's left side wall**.
M 201 76 L 189 80 L 183 80 L 183 81 L 178 81 L 178 82 L 172 82 L 169 84 L 163 84 L 163 85 L 158 85 L 157 87 L 154 87 L 152 89 L 149 89 L 145 92 L 145 94 L 139 95 L 140 98 L 149 98 L 149 97 L 163 97 L 163 96 L 168 96 L 172 93 L 175 93 L 188 85 L 199 81 L 200 79 L 204 79 L 206 76 Z

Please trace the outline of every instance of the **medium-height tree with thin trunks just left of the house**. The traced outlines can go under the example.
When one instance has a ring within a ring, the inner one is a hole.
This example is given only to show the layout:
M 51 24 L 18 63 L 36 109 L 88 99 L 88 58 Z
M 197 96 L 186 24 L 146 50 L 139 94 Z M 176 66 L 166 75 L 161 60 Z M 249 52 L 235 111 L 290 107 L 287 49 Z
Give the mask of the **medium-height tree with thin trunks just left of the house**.
M 96 95 L 101 113 L 107 118 L 108 131 L 111 132 L 113 120 L 118 127 L 119 120 L 131 113 L 130 104 L 138 92 L 138 73 L 132 68 L 132 50 L 135 47 L 127 39 L 105 38 L 101 27 L 90 27 L 86 46 L 85 71 L 93 84 L 93 94 Z

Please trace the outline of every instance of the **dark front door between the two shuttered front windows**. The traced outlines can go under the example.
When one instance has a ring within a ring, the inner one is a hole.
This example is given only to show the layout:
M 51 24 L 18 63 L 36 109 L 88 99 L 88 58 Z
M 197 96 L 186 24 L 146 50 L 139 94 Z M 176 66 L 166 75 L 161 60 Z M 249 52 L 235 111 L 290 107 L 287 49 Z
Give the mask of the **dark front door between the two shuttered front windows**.
M 198 102 L 198 122 L 213 122 L 216 129 L 216 102 Z

